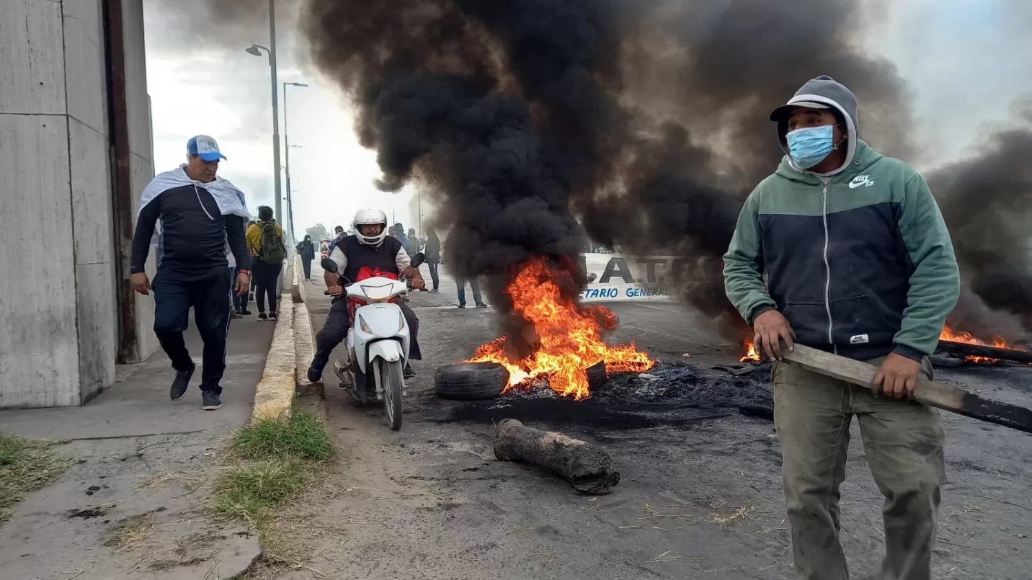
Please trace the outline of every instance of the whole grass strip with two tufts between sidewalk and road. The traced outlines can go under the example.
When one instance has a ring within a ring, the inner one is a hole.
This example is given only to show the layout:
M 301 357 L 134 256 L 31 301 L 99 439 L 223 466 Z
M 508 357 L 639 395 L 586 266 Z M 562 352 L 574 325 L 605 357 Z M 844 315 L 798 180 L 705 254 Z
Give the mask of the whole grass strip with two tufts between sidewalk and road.
M 240 429 L 229 450 L 236 462 L 216 480 L 212 509 L 267 538 L 271 512 L 309 488 L 332 457 L 333 444 L 318 417 L 298 412 Z

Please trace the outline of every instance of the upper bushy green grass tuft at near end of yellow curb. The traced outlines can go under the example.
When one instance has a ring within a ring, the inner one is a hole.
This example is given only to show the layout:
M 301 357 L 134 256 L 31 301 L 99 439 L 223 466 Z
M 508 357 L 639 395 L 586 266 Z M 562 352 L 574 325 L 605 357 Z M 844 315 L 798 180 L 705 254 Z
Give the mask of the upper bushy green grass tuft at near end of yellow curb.
M 311 413 L 297 412 L 286 420 L 265 419 L 237 431 L 229 446 L 241 459 L 291 457 L 325 460 L 333 454 L 326 427 Z

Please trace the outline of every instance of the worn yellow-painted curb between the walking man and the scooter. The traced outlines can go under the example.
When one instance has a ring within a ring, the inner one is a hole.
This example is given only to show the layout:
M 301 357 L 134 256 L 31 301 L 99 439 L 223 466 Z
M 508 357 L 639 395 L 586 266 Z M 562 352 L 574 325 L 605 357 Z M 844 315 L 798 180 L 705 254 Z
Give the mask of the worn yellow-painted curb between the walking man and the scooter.
M 289 292 L 291 290 L 280 296 L 280 317 L 272 332 L 272 345 L 265 357 L 265 370 L 255 389 L 252 423 L 262 419 L 287 419 L 294 402 L 297 386 L 297 354 L 294 351 L 296 313 Z

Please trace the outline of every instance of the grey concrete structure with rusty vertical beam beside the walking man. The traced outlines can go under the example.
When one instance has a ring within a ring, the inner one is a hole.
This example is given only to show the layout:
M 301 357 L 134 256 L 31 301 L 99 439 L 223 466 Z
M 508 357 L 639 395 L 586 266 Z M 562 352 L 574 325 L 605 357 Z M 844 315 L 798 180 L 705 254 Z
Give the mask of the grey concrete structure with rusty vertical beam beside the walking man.
M 0 408 L 83 405 L 157 349 L 129 291 L 151 141 L 142 0 L 0 2 Z

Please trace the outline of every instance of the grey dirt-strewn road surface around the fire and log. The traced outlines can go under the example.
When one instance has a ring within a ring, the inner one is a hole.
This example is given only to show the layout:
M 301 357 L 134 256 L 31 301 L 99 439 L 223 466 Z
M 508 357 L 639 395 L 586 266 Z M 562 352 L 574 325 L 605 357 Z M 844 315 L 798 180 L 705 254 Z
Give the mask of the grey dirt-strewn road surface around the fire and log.
M 309 292 L 314 326 L 328 302 Z M 471 300 L 472 302 L 472 300 Z M 454 285 L 418 293 L 424 358 L 414 364 L 405 425 L 354 407 L 327 377 L 329 425 L 342 463 L 336 492 L 296 525 L 309 559 L 283 578 L 640 580 L 779 579 L 792 573 L 780 452 L 772 423 L 731 413 L 666 409 L 630 420 L 591 400 L 542 400 L 471 413 L 432 396 L 433 370 L 494 336 L 492 311 L 456 310 Z M 707 345 L 704 321 L 671 303 L 614 303 L 618 341 L 668 361 L 733 361 Z M 685 359 L 683 353 L 692 353 Z M 979 367 L 940 380 L 1032 405 L 1032 368 Z M 582 407 L 578 407 L 582 406 Z M 605 496 L 525 465 L 494 460 L 491 421 L 515 417 L 596 443 L 622 481 Z M 1032 577 L 1029 436 L 944 416 L 949 481 L 934 555 L 936 579 Z M 873 578 L 883 551 L 881 496 L 853 426 L 842 486 L 842 543 L 853 578 Z

